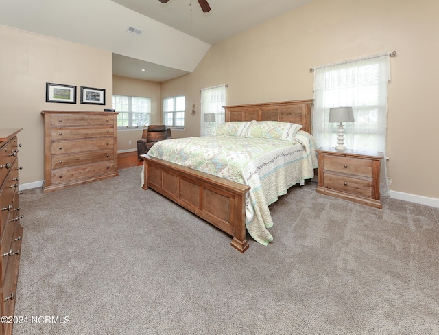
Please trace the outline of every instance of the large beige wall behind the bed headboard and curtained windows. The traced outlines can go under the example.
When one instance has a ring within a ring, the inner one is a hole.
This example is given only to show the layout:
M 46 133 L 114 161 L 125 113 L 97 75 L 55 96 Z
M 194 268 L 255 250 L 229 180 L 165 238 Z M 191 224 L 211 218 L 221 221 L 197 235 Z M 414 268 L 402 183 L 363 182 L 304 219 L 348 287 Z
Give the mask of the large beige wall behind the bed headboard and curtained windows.
M 161 95 L 184 94 L 184 136 L 200 132 L 200 89 L 228 84 L 227 104 L 313 97 L 310 67 L 381 51 L 391 58 L 388 86 L 390 189 L 439 198 L 436 152 L 439 111 L 439 1 L 315 0 L 213 45 L 187 76 L 161 84 Z M 199 112 L 199 111 L 198 111 Z

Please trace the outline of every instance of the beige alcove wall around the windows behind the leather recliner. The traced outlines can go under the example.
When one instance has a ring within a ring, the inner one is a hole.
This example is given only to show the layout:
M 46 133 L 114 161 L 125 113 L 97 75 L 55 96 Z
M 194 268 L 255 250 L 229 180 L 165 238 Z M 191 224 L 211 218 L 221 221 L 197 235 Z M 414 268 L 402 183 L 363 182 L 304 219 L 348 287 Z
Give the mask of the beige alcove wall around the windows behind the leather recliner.
M 151 119 L 150 124 L 161 123 L 161 98 L 160 84 L 120 76 L 112 77 L 112 91 L 115 95 L 128 95 L 132 97 L 151 98 Z M 137 150 L 137 139 L 140 139 L 142 129 L 119 130 L 117 132 L 117 150 Z M 130 143 L 131 141 L 131 143 Z

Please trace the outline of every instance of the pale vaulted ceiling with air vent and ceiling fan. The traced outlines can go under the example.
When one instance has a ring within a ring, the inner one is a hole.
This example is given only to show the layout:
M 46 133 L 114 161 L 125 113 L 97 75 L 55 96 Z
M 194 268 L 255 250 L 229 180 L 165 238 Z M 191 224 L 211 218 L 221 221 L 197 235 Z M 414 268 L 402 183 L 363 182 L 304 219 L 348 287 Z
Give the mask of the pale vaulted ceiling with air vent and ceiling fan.
M 211 45 L 312 0 L 208 1 L 207 13 L 197 0 L 0 1 L 0 24 L 112 51 L 113 74 L 163 82 L 193 71 Z

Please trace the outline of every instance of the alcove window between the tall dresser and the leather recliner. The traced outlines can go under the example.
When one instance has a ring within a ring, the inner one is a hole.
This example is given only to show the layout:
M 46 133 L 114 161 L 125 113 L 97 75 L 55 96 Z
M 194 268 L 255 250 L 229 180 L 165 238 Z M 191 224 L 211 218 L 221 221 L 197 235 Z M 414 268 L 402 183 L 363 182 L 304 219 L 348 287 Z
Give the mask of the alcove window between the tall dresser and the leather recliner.
M 150 124 L 151 99 L 149 97 L 113 95 L 112 108 L 119 112 L 117 128 L 137 128 Z

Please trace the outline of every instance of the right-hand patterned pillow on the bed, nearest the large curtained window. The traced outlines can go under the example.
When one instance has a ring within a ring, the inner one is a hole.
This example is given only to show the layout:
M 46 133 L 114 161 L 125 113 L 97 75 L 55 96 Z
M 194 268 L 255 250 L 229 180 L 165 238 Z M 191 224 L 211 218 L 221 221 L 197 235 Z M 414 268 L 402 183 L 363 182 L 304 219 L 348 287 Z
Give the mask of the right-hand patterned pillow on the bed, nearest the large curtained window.
M 261 137 L 263 139 L 281 139 L 296 143 L 296 133 L 302 128 L 301 124 L 291 124 L 280 121 L 253 122 L 246 137 Z

